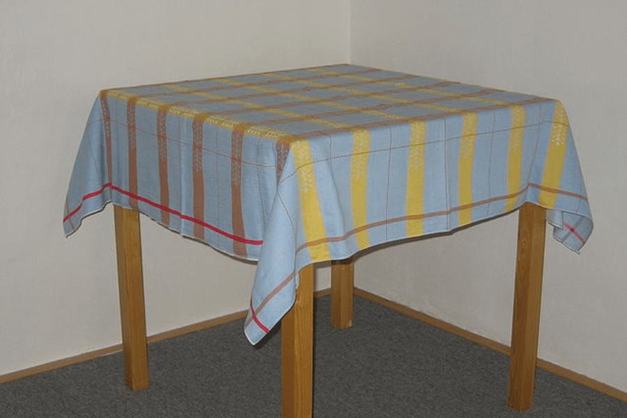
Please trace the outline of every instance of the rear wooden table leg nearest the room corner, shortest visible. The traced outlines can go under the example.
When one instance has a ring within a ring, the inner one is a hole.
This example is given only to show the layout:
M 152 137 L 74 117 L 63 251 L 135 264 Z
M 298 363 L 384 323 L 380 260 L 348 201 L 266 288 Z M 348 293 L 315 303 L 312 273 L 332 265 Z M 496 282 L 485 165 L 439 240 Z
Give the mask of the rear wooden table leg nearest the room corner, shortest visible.
M 331 325 L 353 326 L 353 257 L 331 262 Z

